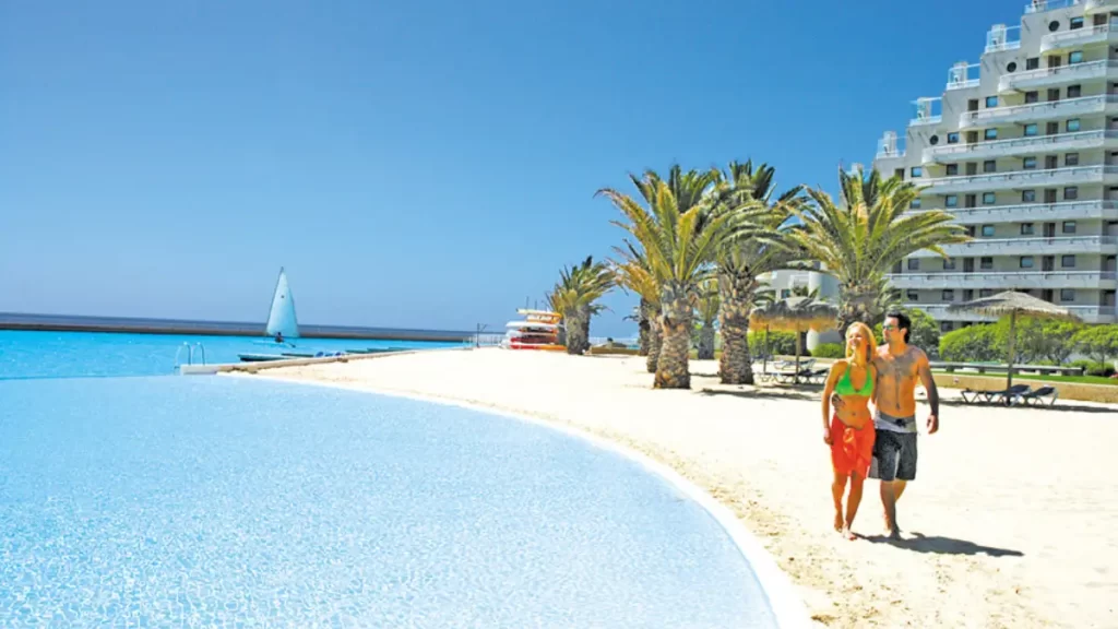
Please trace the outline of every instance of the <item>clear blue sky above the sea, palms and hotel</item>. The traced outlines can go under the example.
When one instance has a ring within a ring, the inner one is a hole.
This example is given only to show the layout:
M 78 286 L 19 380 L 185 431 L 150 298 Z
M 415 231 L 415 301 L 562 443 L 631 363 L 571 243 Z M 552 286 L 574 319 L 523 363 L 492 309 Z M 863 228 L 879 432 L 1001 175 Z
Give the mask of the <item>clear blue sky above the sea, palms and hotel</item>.
M 263 322 L 284 265 L 302 322 L 503 326 L 619 243 L 598 188 L 832 189 L 1024 4 L 6 0 L 0 311 Z

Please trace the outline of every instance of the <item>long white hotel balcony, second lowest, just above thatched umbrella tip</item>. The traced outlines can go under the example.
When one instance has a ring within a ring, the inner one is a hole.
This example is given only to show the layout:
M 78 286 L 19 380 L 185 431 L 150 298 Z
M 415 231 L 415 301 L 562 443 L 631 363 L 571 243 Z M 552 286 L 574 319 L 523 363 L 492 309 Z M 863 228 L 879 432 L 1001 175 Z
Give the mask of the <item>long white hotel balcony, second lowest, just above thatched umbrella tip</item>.
M 890 273 L 893 288 L 906 289 L 1098 289 L 1118 288 L 1114 271 L 1033 271 L 1027 273 Z

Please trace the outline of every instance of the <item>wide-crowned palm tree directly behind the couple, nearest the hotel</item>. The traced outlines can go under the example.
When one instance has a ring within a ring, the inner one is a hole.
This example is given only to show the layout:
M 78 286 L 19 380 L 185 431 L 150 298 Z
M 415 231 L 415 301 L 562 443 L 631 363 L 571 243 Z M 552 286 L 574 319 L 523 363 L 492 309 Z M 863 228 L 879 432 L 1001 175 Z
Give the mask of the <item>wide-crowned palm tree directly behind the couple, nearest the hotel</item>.
M 946 212 L 929 209 L 906 215 L 917 196 L 912 184 L 899 177 L 882 180 L 840 168 L 840 203 L 818 189 L 808 189 L 814 201 L 795 212 L 803 223 L 795 241 L 805 257 L 823 264 L 821 271 L 839 281 L 840 329 L 853 321 L 875 325 L 889 290 L 884 274 L 906 256 L 930 250 L 946 257 L 941 245 L 970 240 L 966 229 Z

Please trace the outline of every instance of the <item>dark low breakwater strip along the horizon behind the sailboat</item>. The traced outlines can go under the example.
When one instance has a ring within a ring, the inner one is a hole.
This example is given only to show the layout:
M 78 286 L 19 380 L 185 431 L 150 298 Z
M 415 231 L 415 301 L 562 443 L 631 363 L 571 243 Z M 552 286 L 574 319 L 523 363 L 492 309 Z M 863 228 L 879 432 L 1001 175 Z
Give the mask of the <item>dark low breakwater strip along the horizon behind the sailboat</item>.
M 0 330 L 70 332 L 129 332 L 151 335 L 264 336 L 264 323 L 237 321 L 187 321 L 132 317 L 82 317 L 70 314 L 23 314 L 0 312 Z M 452 330 L 413 330 L 401 328 L 362 328 L 357 326 L 300 325 L 304 338 L 352 338 L 383 340 L 429 340 L 458 342 L 474 332 Z

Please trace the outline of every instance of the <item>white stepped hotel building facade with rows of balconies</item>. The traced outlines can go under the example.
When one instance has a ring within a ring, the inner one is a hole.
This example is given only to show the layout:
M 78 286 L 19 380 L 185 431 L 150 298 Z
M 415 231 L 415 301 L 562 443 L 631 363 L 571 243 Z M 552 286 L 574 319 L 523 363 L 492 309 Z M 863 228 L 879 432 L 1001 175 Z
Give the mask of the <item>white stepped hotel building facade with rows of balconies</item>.
M 944 330 L 984 320 L 951 302 L 1018 290 L 1114 322 L 1118 289 L 1118 0 L 1033 0 L 994 25 L 977 64 L 916 101 L 903 142 L 874 168 L 920 188 L 911 212 L 945 209 L 974 242 L 923 251 L 890 279 Z

